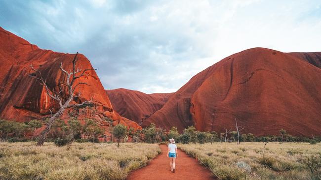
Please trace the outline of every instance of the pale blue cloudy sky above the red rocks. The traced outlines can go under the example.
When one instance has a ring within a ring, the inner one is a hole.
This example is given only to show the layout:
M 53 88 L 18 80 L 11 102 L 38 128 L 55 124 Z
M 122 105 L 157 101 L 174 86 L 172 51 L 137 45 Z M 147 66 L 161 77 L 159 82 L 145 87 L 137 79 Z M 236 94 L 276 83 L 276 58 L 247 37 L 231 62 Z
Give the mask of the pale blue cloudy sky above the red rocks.
M 0 26 L 84 54 L 105 89 L 173 92 L 239 51 L 321 51 L 320 0 L 0 0 Z

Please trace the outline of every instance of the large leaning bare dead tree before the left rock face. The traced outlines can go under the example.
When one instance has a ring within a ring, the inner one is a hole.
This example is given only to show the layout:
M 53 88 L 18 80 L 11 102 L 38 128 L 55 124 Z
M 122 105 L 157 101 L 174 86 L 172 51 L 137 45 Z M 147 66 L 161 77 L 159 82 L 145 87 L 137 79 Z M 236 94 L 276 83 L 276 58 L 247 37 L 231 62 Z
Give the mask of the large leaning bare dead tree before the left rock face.
M 40 84 L 45 88 L 48 96 L 51 97 L 52 99 L 54 99 L 55 101 L 57 101 L 59 103 L 59 107 L 60 107 L 60 109 L 55 114 L 50 116 L 50 119 L 48 120 L 48 122 L 46 124 L 46 128 L 40 134 L 37 146 L 43 145 L 44 141 L 47 138 L 47 135 L 48 135 L 48 132 L 49 132 L 51 126 L 53 125 L 55 120 L 57 120 L 63 114 L 65 109 L 70 108 L 70 107 L 92 104 L 91 99 L 89 101 L 84 101 L 81 104 L 70 104 L 74 100 L 74 98 L 80 96 L 80 92 L 77 95 L 74 95 L 74 92 L 79 85 L 89 86 L 87 83 L 81 83 L 81 82 L 75 84 L 75 80 L 77 80 L 78 78 L 80 78 L 82 76 L 85 76 L 86 71 L 96 70 L 96 69 L 92 69 L 92 68 L 84 69 L 84 70 L 81 70 L 78 67 L 76 68 L 76 63 L 78 60 L 77 55 L 78 55 L 78 52 L 76 53 L 74 60 L 73 60 L 73 69 L 72 69 L 72 71 L 69 70 L 71 72 L 66 71 L 62 67 L 62 62 L 60 63 L 60 70 L 65 75 L 67 75 L 66 84 L 64 84 L 64 83 L 62 84 L 68 88 L 68 92 L 66 94 L 63 94 L 63 90 L 60 90 L 59 92 L 55 92 L 54 90 L 50 91 L 48 88 L 48 85 L 46 84 L 47 80 L 43 79 L 41 72 L 39 70 L 35 69 L 32 65 L 30 65 L 31 69 L 35 72 L 30 74 L 29 76 L 40 81 Z M 64 98 L 64 97 L 66 97 L 66 98 Z

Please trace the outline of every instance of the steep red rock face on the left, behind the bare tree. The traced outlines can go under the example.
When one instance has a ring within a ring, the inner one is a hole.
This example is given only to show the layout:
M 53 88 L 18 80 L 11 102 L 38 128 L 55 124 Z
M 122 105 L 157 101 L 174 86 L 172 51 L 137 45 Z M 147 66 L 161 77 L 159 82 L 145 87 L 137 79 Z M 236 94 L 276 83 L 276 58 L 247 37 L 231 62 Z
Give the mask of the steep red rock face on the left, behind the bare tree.
M 74 56 L 73 54 L 42 50 L 0 28 L 0 118 L 22 122 L 44 117 L 49 113 L 49 108 L 57 110 L 59 107 L 56 102 L 46 94 L 40 83 L 28 76 L 32 73 L 30 64 L 41 71 L 42 76 L 47 79 L 50 90 L 62 89 L 65 91 L 66 89 L 62 85 L 58 86 L 65 82 L 66 78 L 59 69 L 60 62 L 68 70 L 72 67 Z M 78 67 L 92 68 L 90 61 L 85 56 L 80 54 L 78 57 Z M 115 123 L 141 128 L 137 123 L 123 118 L 113 111 L 108 95 L 94 70 L 87 71 L 86 76 L 77 81 L 90 86 L 80 85 L 77 90 L 81 92 L 81 95 L 75 101 L 81 103 L 92 98 L 95 106 L 68 110 L 62 116 L 63 119 L 69 118 L 68 112 L 75 110 L 77 116 L 82 119 L 90 118 L 103 121 L 104 117 L 109 117 L 115 120 Z

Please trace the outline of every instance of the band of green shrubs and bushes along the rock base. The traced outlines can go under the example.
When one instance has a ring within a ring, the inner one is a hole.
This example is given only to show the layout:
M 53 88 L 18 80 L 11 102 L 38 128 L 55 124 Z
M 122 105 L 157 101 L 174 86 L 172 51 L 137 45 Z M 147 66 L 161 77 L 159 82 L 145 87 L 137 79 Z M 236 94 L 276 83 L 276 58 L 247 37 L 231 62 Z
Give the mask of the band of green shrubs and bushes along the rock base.
M 114 137 L 114 128 L 112 121 L 107 119 L 110 124 L 111 135 L 109 141 L 117 141 L 118 138 Z M 64 146 L 70 144 L 73 141 L 76 142 L 98 142 L 100 137 L 106 137 L 103 129 L 95 120 L 84 119 L 84 123 L 80 123 L 77 118 L 71 118 L 70 120 L 57 120 L 50 132 L 48 133 L 47 142 L 65 142 L 57 143 L 58 146 Z M 34 133 L 40 125 L 45 121 L 32 120 L 27 123 L 15 122 L 9 120 L 0 120 L 0 141 L 9 142 L 25 142 L 29 140 L 36 140 L 37 135 Z M 141 129 L 123 128 L 124 136 L 120 137 L 120 142 L 126 142 L 129 137 L 131 142 L 145 142 L 145 143 L 159 143 L 167 142 L 168 139 L 174 138 L 177 143 L 189 144 L 189 143 L 206 143 L 206 142 L 309 142 L 314 145 L 321 141 L 321 137 L 313 136 L 313 138 L 303 136 L 291 136 L 287 134 L 283 129 L 280 130 L 280 135 L 265 135 L 255 136 L 252 133 L 241 133 L 238 137 L 237 131 L 228 131 L 217 133 L 215 131 L 200 132 L 197 131 L 194 126 L 189 126 L 179 134 L 176 127 L 166 132 L 161 127 L 156 127 L 151 123 L 150 126 Z M 232 129 L 231 129 L 232 130 Z M 32 137 L 30 138 L 30 133 Z M 29 135 L 28 135 L 29 134 Z M 59 138 L 59 139 L 58 139 Z M 58 140 L 56 140 L 58 139 Z

